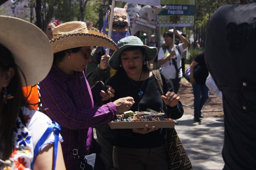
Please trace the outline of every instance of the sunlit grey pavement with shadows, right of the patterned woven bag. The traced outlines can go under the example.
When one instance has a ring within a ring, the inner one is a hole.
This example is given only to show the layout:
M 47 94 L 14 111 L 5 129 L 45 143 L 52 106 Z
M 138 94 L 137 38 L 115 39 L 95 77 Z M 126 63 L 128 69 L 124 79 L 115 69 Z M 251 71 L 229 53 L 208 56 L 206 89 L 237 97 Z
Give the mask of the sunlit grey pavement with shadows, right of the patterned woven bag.
M 222 170 L 223 118 L 203 118 L 201 123 L 194 123 L 192 115 L 184 114 L 175 129 L 194 170 Z

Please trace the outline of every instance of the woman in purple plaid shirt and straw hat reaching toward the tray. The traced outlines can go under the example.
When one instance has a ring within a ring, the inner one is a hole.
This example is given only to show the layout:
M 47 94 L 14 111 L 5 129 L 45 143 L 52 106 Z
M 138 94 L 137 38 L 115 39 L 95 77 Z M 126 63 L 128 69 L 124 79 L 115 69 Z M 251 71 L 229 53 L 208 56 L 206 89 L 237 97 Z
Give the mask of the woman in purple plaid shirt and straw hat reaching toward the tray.
M 84 155 L 99 153 L 91 127 L 111 121 L 116 113 L 128 111 L 134 101 L 132 97 L 126 97 L 94 107 L 83 70 L 91 60 L 90 46 L 117 49 L 106 34 L 87 29 L 85 22 L 67 22 L 53 28 L 50 42 L 54 61 L 49 74 L 40 83 L 42 107 L 62 126 L 64 160 L 66 168 L 73 170 L 82 161 L 76 159 L 76 154 L 84 158 Z M 107 93 L 101 91 L 102 100 L 114 97 L 113 92 L 112 88 Z

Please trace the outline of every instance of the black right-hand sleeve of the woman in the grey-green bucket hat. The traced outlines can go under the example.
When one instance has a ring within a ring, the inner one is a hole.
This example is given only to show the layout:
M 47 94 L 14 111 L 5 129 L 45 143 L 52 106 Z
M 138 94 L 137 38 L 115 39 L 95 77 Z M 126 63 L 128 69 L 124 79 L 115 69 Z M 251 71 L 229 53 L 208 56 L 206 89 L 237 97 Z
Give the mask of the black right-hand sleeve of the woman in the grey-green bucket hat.
M 162 78 L 162 83 L 164 86 L 164 95 L 167 93 L 167 91 L 174 92 L 174 85 L 172 84 L 171 79 L 164 73 L 161 73 L 161 78 Z M 169 117 L 172 119 L 179 119 L 182 117 L 184 113 L 182 103 L 179 101 L 177 106 L 175 107 L 170 107 L 167 106 L 167 114 L 169 114 Z

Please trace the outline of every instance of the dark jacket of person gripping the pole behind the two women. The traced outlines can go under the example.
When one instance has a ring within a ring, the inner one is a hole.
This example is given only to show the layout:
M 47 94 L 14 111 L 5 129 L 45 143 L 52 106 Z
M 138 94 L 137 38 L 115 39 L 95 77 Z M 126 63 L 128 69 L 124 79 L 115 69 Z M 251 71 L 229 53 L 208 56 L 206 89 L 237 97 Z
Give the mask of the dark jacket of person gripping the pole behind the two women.
M 86 79 L 90 86 L 92 87 L 97 81 L 106 82 L 107 79 L 110 78 L 110 68 L 108 67 L 106 70 L 101 70 L 98 68 L 98 64 L 100 63 L 101 56 L 104 55 L 103 47 L 97 47 L 94 55 L 91 56 L 91 61 L 87 64 L 86 67 Z

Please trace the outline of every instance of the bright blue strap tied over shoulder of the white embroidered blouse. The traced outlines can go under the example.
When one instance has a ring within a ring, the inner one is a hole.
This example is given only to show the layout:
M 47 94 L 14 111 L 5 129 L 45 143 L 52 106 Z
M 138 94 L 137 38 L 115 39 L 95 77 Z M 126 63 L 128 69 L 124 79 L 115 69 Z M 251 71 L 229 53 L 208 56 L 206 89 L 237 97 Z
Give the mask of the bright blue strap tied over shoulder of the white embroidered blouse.
M 40 152 L 39 148 L 43 145 L 43 143 L 46 141 L 47 137 L 53 131 L 54 132 L 54 167 L 53 167 L 53 170 L 55 170 L 57 151 L 58 151 L 58 142 L 59 142 L 59 132 L 60 132 L 61 128 L 57 122 L 52 121 L 52 123 L 53 124 L 48 126 L 48 128 L 44 132 L 43 136 L 39 139 L 39 141 L 37 142 L 37 144 L 34 148 L 34 158 L 33 158 L 33 162 L 31 163 L 31 169 L 33 169 L 37 154 Z

